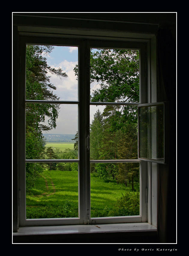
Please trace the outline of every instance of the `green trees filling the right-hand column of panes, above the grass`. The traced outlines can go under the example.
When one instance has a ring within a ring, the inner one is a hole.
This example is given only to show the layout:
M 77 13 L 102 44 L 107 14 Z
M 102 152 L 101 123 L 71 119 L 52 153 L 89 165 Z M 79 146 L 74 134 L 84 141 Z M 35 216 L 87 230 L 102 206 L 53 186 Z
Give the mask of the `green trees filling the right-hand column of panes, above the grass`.
M 139 51 L 97 49 L 91 51 L 90 82 L 97 82 L 91 101 L 139 102 Z M 77 67 L 75 68 L 77 73 Z M 137 159 L 138 116 L 136 106 L 107 105 L 90 125 L 90 159 Z M 91 171 L 104 179 L 125 184 L 139 181 L 139 166 L 96 164 Z

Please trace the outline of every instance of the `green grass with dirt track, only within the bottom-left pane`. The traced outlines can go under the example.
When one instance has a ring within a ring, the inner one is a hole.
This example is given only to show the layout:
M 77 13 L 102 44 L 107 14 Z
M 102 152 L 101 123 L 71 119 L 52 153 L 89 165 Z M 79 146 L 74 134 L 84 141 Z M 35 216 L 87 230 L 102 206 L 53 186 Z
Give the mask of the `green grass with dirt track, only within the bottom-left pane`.
M 61 217 L 78 217 L 78 172 L 44 170 L 26 195 L 26 218 Z

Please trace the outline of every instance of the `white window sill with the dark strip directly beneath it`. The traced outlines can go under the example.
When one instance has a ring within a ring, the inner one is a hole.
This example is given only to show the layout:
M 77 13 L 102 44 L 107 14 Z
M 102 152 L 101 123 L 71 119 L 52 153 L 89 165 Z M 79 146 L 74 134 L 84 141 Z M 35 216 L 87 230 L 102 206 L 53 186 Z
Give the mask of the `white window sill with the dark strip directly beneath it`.
M 157 243 L 157 228 L 149 223 L 20 227 L 13 243 L 117 244 Z

